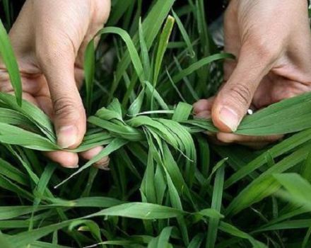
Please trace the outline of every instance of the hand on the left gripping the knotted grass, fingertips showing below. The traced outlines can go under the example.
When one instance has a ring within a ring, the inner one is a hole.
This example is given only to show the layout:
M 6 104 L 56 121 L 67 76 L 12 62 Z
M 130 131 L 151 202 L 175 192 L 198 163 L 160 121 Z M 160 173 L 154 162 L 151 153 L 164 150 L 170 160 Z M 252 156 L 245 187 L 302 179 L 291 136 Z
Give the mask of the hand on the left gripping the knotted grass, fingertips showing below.
M 27 0 L 9 32 L 18 60 L 23 98 L 42 108 L 52 119 L 57 143 L 74 149 L 86 133 L 86 111 L 78 89 L 83 81 L 83 57 L 88 42 L 110 13 L 110 0 Z M 4 64 L 0 91 L 13 94 Z M 103 147 L 81 153 L 91 159 Z M 78 154 L 48 152 L 63 167 L 75 168 Z M 97 166 L 104 169 L 105 157 Z

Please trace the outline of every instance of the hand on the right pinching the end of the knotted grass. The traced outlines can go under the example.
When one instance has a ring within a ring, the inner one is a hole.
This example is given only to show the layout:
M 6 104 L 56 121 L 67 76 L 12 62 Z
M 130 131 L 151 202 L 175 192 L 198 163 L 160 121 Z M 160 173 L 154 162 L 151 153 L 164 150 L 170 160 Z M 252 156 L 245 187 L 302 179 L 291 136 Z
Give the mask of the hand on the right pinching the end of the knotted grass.
M 212 118 L 218 141 L 262 146 L 281 136 L 235 135 L 252 106 L 264 108 L 311 91 L 311 33 L 305 0 L 231 0 L 225 11 L 224 83 L 218 94 L 194 103 L 198 118 Z

